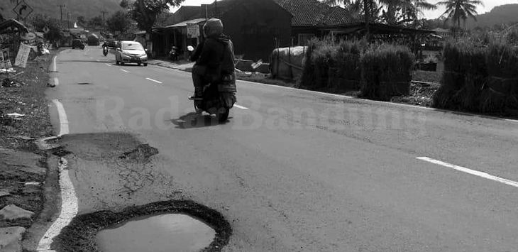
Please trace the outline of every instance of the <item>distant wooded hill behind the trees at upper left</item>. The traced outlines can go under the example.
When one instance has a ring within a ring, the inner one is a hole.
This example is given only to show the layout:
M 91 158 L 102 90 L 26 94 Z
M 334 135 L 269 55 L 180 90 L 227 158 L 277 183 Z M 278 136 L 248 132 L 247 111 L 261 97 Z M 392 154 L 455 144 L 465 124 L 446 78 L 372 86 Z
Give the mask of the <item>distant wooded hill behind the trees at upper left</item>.
M 57 5 L 65 4 L 63 8 L 63 19 L 67 18 L 70 13 L 70 19 L 84 16 L 86 19 L 101 16 L 101 11 L 107 11 L 106 18 L 116 11 L 122 10 L 119 3 L 121 0 L 25 0 L 34 11 L 35 14 L 43 14 L 51 18 L 60 18 L 60 7 Z M 12 9 L 16 6 L 9 0 L 0 0 L 0 13 L 4 18 L 16 18 L 16 14 Z M 31 17 L 29 16 L 29 17 Z

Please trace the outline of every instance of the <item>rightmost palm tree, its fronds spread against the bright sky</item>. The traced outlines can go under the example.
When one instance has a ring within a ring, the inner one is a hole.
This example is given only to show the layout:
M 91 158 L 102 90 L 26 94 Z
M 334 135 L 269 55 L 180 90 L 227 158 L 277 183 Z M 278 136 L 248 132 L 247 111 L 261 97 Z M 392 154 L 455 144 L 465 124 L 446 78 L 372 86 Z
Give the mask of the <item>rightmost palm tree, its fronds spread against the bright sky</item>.
M 457 23 L 458 28 L 461 27 L 461 18 L 465 21 L 470 17 L 477 21 L 475 17 L 477 14 L 477 5 L 484 6 L 480 0 L 446 0 L 440 1 L 437 4 L 446 6 L 446 11 L 444 11 L 441 16 L 447 15 L 446 18 L 451 18 L 454 23 Z

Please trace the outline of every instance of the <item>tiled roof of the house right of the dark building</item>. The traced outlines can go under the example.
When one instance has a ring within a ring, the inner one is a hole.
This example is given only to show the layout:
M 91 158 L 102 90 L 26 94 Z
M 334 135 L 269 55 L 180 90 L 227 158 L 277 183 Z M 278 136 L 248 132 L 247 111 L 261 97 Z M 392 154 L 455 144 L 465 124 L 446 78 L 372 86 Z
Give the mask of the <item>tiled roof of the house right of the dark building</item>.
M 336 26 L 353 23 L 351 14 L 341 7 L 331 7 L 318 0 L 277 0 L 292 13 L 292 26 Z

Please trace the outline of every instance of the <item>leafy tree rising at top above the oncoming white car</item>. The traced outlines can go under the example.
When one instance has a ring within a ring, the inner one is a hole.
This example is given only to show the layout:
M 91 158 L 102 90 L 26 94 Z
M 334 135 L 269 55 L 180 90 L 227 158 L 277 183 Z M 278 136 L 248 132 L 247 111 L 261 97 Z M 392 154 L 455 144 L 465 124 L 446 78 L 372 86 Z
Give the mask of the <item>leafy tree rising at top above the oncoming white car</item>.
M 131 17 L 140 30 L 151 33 L 160 13 L 170 6 L 180 6 L 184 0 L 136 0 L 131 6 Z

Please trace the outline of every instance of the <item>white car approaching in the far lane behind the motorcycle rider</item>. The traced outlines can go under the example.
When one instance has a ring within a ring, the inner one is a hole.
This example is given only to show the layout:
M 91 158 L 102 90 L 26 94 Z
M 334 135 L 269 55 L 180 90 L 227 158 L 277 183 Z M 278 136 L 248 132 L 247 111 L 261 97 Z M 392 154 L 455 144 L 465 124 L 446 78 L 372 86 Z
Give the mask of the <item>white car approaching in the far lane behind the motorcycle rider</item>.
M 125 63 L 137 63 L 137 65 L 148 65 L 148 54 L 137 41 L 121 41 L 115 51 L 116 65 Z

